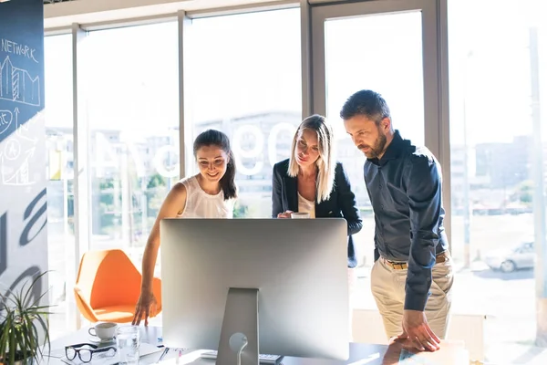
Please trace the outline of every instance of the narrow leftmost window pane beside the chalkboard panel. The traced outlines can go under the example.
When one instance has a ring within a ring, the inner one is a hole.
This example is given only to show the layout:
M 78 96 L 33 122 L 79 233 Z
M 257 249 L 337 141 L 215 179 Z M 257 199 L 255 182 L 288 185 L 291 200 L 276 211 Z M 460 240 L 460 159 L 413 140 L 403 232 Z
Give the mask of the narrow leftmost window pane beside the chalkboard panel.
M 55 305 L 52 339 L 71 328 L 67 319 L 68 273 L 74 262 L 72 38 L 46 36 L 46 179 L 49 303 Z

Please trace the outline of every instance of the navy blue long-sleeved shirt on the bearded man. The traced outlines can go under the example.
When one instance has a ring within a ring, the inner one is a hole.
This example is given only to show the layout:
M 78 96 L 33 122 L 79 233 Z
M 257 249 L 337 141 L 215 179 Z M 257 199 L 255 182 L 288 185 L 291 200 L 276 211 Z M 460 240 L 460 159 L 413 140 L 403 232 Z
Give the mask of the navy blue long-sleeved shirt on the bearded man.
M 424 310 L 435 256 L 448 250 L 442 174 L 426 147 L 395 131 L 381 159 L 367 159 L 365 182 L 375 214 L 375 261 L 408 262 L 405 309 Z

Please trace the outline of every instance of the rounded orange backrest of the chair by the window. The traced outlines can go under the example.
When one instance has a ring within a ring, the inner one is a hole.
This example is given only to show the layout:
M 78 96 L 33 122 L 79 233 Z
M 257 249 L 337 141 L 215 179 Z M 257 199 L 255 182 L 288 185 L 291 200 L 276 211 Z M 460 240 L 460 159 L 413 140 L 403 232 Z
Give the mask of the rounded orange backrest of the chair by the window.
M 122 250 L 88 251 L 82 256 L 77 286 L 91 308 L 136 304 L 140 273 Z

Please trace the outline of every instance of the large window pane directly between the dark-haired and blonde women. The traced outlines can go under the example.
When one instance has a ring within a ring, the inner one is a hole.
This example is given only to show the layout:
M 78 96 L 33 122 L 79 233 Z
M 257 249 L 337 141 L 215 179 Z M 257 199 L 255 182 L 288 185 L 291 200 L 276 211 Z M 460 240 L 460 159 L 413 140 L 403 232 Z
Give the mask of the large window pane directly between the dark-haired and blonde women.
M 273 164 L 289 157 L 302 120 L 300 11 L 193 20 L 190 41 L 188 134 L 191 140 L 211 128 L 228 134 L 240 190 L 234 216 L 269 217 Z M 192 157 L 186 172 L 197 173 Z

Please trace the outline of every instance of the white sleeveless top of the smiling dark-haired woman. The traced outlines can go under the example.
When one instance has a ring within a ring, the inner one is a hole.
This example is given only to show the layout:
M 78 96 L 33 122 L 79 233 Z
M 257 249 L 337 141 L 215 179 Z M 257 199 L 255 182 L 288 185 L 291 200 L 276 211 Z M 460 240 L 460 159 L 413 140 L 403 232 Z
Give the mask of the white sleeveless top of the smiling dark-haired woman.
M 186 188 L 186 205 L 178 218 L 232 218 L 233 199 L 224 200 L 224 192 L 205 193 L 196 176 L 181 180 Z

